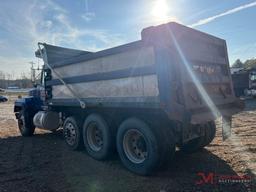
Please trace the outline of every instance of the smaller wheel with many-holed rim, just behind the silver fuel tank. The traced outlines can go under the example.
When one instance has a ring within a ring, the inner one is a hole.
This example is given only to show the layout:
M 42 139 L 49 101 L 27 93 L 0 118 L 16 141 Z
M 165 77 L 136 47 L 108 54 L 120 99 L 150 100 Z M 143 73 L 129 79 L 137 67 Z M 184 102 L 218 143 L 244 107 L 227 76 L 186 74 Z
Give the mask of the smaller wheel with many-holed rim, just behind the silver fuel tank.
M 68 117 L 63 124 L 63 137 L 65 143 L 71 150 L 79 150 L 82 148 L 81 123 L 75 117 Z

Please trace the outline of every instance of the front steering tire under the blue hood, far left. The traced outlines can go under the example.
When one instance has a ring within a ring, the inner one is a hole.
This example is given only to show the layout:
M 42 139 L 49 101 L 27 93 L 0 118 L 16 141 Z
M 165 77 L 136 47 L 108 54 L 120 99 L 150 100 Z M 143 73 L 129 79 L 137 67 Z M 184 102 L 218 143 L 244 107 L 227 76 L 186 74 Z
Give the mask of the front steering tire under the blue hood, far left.
M 24 137 L 30 137 L 34 134 L 33 118 L 30 117 L 28 111 L 22 110 L 19 112 L 18 127 L 21 135 Z

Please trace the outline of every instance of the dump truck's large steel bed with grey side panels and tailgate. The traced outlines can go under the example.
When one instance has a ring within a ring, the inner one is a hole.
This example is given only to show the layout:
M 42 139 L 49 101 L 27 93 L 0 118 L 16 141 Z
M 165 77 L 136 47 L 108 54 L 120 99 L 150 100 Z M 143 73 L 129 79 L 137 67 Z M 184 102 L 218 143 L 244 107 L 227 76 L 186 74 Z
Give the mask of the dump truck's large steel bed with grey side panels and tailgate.
M 176 23 L 146 28 L 139 41 L 95 53 L 47 44 L 43 50 L 52 107 L 80 107 L 80 100 L 88 108 L 157 109 L 192 124 L 241 110 L 225 41 Z

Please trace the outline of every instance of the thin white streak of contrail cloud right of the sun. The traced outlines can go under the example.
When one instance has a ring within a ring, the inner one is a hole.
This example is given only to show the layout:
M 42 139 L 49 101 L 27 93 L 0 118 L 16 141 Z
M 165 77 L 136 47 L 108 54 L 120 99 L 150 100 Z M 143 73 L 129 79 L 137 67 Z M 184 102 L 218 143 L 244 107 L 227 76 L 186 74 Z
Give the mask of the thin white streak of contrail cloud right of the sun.
M 201 19 L 199 21 L 197 21 L 196 23 L 193 23 L 192 25 L 190 25 L 190 27 L 197 27 L 197 26 L 200 26 L 200 25 L 205 25 L 207 23 L 210 23 L 220 17 L 224 17 L 226 15 L 231 15 L 231 14 L 234 14 L 234 13 L 237 13 L 239 11 L 242 11 L 244 9 L 248 9 L 250 7 L 254 7 L 256 6 L 256 1 L 252 2 L 252 3 L 248 3 L 248 4 L 245 4 L 245 5 L 241 5 L 239 7 L 236 7 L 236 8 L 233 8 L 233 9 L 230 9 L 230 10 L 227 10 L 223 13 L 220 13 L 218 15 L 214 15 L 214 16 L 211 16 L 211 17 L 208 17 L 208 18 L 205 18 L 205 19 Z

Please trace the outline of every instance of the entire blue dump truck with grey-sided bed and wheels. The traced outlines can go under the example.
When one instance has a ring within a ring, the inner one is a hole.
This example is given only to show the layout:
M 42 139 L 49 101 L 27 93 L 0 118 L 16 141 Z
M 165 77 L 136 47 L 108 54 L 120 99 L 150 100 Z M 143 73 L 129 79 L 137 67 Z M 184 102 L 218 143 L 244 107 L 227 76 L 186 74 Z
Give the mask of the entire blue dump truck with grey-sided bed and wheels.
M 224 139 L 243 109 L 234 95 L 226 42 L 177 23 L 142 30 L 141 40 L 88 52 L 45 43 L 41 85 L 15 102 L 23 136 L 63 128 L 71 150 L 96 160 L 116 151 L 127 169 L 148 175 L 178 147 L 194 152 Z M 83 163 L 83 162 L 81 162 Z

